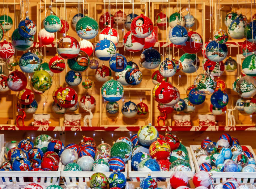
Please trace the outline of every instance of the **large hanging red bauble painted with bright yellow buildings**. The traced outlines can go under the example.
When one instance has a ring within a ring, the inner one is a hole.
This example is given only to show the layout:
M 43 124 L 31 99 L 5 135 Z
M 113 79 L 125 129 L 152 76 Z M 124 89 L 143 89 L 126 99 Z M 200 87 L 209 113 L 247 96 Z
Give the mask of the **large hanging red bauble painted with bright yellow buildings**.
M 78 96 L 76 91 L 70 87 L 63 87 L 59 89 L 56 96 L 57 103 L 64 108 L 75 106 L 77 99 Z

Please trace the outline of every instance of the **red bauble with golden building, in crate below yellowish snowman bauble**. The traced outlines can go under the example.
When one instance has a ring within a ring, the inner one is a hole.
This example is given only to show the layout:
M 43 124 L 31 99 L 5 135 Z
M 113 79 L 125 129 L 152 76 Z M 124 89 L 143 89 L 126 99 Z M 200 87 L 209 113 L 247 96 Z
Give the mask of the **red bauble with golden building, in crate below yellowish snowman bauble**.
M 167 159 L 171 155 L 171 148 L 166 141 L 158 139 L 149 146 L 149 154 L 156 160 Z

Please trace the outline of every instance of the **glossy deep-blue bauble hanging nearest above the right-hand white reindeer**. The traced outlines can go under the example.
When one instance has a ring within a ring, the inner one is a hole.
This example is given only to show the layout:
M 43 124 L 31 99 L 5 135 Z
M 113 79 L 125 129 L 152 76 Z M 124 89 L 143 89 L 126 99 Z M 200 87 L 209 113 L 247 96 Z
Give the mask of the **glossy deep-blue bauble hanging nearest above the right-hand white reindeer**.
M 228 94 L 222 90 L 217 90 L 211 95 L 211 104 L 216 108 L 223 108 L 228 104 Z

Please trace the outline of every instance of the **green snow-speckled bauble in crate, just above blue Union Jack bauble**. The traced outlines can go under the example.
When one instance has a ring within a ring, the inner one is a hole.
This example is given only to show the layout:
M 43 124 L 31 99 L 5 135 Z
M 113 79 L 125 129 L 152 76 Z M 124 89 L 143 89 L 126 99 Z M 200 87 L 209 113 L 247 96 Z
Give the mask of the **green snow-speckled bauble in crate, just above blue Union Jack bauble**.
M 131 157 L 131 147 L 126 142 L 116 142 L 111 147 L 110 155 L 122 157 L 127 162 Z

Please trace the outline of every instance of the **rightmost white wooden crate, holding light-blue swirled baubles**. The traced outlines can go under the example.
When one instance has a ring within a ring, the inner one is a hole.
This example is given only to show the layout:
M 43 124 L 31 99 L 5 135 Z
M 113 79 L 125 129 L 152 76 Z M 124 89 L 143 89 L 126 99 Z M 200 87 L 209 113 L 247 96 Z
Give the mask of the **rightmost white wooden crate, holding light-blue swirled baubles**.
M 199 169 L 199 165 L 197 163 L 197 160 L 196 160 L 196 155 L 194 153 L 194 150 L 196 150 L 197 148 L 201 148 L 200 145 L 190 145 L 190 150 L 191 150 L 191 154 L 192 154 L 192 158 L 193 158 L 193 161 L 194 161 L 194 164 L 195 164 L 195 170 L 196 172 L 200 171 Z M 253 154 L 254 156 L 254 159 L 255 159 L 255 153 L 252 149 L 251 146 L 246 146 L 250 152 Z M 256 179 L 256 173 L 255 172 L 208 172 L 209 174 L 211 174 L 212 178 L 214 179 L 214 183 L 221 183 L 221 180 L 222 182 L 224 182 L 225 180 L 233 177 L 235 179 L 237 179 L 239 182 L 242 182 L 243 183 L 251 183 L 253 184 L 254 183 L 254 180 Z

